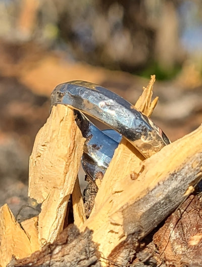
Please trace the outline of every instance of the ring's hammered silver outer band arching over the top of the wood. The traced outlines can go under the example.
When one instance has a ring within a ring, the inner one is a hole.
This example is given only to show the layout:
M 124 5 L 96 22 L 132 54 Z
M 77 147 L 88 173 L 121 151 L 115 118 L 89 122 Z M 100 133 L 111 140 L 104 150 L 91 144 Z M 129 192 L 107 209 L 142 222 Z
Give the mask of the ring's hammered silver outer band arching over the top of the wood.
M 148 158 L 170 144 L 165 133 L 125 99 L 106 88 L 85 81 L 59 84 L 51 105 L 64 104 L 110 126 Z

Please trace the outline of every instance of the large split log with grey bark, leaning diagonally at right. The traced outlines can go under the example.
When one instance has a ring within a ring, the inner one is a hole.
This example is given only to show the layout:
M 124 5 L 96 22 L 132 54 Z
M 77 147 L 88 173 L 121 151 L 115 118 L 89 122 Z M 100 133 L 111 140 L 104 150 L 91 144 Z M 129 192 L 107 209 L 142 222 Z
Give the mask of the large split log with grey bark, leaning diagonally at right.
M 119 146 L 83 230 L 93 230 L 93 241 L 104 258 L 125 265 L 135 252 L 135 241 L 168 216 L 200 179 L 202 125 L 143 161 L 139 173 L 130 173 L 134 157 L 127 159 L 126 154 L 123 160 L 123 154 Z

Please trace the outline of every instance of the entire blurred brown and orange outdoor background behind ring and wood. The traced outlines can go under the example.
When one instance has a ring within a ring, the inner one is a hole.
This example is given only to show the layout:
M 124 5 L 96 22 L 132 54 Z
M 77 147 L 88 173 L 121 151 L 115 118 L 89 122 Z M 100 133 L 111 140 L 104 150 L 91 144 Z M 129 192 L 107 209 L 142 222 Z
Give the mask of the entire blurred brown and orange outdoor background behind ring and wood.
M 35 205 L 29 155 L 59 83 L 95 82 L 135 103 L 155 74 L 152 119 L 171 141 L 202 122 L 201 1 L 0 0 L 0 15 L 0 204 L 15 215 Z

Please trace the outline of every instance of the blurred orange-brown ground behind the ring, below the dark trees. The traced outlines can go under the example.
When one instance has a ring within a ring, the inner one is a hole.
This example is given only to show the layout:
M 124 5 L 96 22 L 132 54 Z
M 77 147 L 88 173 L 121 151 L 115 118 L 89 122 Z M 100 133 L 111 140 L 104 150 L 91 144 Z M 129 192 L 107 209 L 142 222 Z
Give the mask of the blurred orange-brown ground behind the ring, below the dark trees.
M 36 133 L 48 117 L 54 87 L 87 80 L 135 103 L 148 79 L 72 62 L 64 52 L 45 51 L 35 43 L 2 40 L 0 54 L 0 205 L 7 202 L 15 215 L 20 211 L 18 219 L 25 219 L 39 208 L 27 198 L 28 162 Z M 171 141 L 201 124 L 202 80 L 191 68 L 175 80 L 156 81 L 154 96 L 159 96 L 159 104 L 151 119 Z

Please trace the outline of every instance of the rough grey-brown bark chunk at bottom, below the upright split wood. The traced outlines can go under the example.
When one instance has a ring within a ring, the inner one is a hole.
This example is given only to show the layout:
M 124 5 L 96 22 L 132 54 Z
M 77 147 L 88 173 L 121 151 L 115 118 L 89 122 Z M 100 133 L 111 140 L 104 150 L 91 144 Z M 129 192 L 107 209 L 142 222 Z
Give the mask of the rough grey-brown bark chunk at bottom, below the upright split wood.
M 7 267 L 99 267 L 91 234 L 89 229 L 79 233 L 75 225 L 69 225 L 53 244 L 46 244 L 27 258 L 13 258 Z

